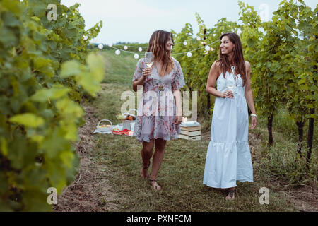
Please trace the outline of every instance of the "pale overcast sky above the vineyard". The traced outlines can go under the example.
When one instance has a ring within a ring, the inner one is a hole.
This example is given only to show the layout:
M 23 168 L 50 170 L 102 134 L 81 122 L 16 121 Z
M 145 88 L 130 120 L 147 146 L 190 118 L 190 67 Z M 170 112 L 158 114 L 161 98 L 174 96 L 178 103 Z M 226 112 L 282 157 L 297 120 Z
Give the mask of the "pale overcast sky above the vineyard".
M 242 0 L 254 6 L 262 20 L 270 20 L 281 0 Z M 194 35 L 199 32 L 195 13 L 207 28 L 213 28 L 220 18 L 238 21 L 240 7 L 237 0 L 61 0 L 61 4 L 78 8 L 86 22 L 86 30 L 102 20 L 100 34 L 92 42 L 114 44 L 117 42 L 149 41 L 155 30 L 180 32 L 190 23 Z M 314 9 L 317 0 L 305 0 Z

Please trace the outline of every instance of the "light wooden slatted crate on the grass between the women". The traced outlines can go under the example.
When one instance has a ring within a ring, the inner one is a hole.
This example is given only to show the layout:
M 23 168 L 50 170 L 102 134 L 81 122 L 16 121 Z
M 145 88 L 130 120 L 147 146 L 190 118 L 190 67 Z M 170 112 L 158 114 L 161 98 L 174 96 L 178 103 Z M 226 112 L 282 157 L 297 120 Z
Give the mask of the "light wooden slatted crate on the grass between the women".
M 179 138 L 200 141 L 201 140 L 201 125 L 197 121 L 185 121 L 180 124 L 181 133 Z

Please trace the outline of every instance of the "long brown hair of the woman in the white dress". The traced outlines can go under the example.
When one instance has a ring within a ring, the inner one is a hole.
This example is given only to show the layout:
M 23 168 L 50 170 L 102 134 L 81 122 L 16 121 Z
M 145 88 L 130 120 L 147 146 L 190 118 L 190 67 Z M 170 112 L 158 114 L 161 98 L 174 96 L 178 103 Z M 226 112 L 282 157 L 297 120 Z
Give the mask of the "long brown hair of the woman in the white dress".
M 243 50 L 242 50 L 240 37 L 236 33 L 230 32 L 230 33 L 224 33 L 223 35 L 221 35 L 220 40 L 222 40 L 224 36 L 227 36 L 228 39 L 233 44 L 235 44 L 235 50 L 233 49 L 234 54 L 233 54 L 232 62 L 235 66 L 235 73 L 241 75 L 241 78 L 243 80 L 243 86 L 244 86 L 246 83 L 246 67 L 245 67 L 245 60 L 243 56 Z M 228 57 L 225 54 L 222 54 L 221 50 L 218 56 L 220 59 L 218 59 L 217 62 L 221 63 L 223 76 L 225 78 L 226 71 L 232 71 L 231 69 L 232 65 L 230 64 Z

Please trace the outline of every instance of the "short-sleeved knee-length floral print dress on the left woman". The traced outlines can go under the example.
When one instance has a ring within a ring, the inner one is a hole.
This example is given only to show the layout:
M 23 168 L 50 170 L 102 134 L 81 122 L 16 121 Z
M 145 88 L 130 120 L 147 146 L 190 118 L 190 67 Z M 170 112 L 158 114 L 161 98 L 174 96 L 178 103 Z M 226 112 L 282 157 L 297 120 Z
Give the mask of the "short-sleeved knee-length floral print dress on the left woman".
M 151 76 L 143 83 L 143 95 L 134 127 L 134 136 L 139 142 L 149 142 L 156 138 L 170 141 L 177 139 L 180 133 L 180 126 L 173 124 L 176 116 L 173 92 L 182 88 L 185 83 L 179 62 L 172 59 L 174 68 L 170 73 L 159 76 L 154 64 Z M 144 58 L 139 59 L 133 81 L 141 78 L 145 68 Z

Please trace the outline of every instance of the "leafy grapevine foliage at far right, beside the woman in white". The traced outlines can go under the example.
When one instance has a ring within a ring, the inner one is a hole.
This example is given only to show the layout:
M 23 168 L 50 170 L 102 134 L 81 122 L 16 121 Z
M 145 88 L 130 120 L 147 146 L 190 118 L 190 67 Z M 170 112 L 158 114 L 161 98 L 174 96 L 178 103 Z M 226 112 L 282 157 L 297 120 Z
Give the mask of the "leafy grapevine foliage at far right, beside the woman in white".
M 314 28 L 317 17 L 301 3 L 298 8 L 293 1 L 282 1 L 272 21 L 262 25 L 266 35 L 257 43 L 259 54 L 253 57 L 253 82 L 256 102 L 265 116 L 287 103 L 285 106 L 296 121 L 315 117 L 309 115 L 309 108 L 314 107 L 314 97 L 317 100 L 317 94 L 313 94 L 317 91 L 317 72 L 313 67 L 317 53 L 308 51 L 307 45 L 317 45 L 315 38 L 310 40 L 317 35 L 317 26 L 312 30 L 307 27 Z M 305 34 L 306 30 L 310 33 Z

